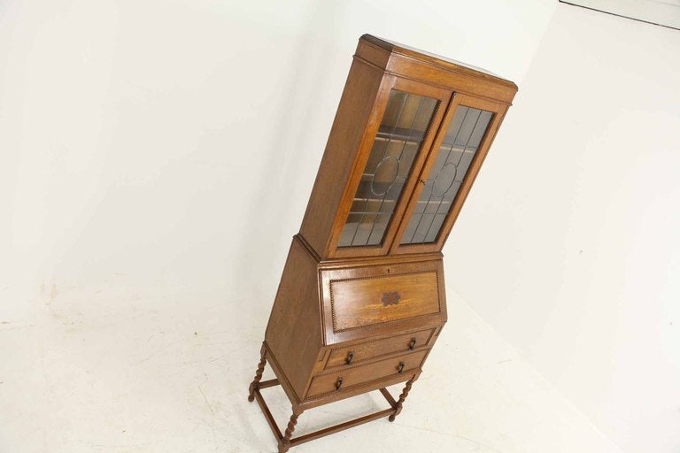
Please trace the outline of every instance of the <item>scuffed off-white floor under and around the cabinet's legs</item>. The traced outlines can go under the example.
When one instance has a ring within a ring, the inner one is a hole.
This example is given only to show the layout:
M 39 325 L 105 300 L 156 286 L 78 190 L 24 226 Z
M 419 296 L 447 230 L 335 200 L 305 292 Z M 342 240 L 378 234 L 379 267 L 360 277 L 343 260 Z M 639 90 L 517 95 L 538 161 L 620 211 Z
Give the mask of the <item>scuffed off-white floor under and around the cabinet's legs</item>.
M 246 401 L 269 301 L 25 297 L 26 312 L 0 313 L 0 451 L 275 451 Z M 291 451 L 619 452 L 451 292 L 449 319 L 395 423 Z M 285 426 L 282 390 L 263 393 Z M 384 407 L 377 393 L 330 404 L 305 412 L 297 433 Z

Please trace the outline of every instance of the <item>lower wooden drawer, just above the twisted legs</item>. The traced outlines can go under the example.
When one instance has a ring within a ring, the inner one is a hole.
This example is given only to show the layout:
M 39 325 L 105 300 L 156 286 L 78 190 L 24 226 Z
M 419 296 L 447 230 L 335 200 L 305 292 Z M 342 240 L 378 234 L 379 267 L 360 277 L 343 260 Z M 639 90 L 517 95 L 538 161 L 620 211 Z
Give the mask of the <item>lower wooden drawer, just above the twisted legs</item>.
M 352 388 L 353 386 L 373 380 L 387 377 L 392 378 L 399 374 L 400 369 L 405 374 L 417 370 L 421 367 L 427 353 L 428 350 L 425 349 L 404 356 L 381 360 L 373 364 L 352 366 L 352 368 L 340 369 L 336 372 L 315 376 L 307 392 L 307 397 L 342 391 L 345 388 Z M 337 388 L 338 383 L 340 383 L 339 388 Z

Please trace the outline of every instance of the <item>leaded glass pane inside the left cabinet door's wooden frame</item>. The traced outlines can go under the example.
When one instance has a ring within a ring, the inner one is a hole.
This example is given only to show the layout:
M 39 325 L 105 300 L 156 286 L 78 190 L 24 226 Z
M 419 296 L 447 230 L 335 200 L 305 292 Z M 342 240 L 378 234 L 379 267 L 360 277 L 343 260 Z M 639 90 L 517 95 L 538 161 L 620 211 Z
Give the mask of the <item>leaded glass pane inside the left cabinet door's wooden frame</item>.
M 380 245 L 415 157 L 437 110 L 437 99 L 393 89 L 375 134 L 340 247 Z

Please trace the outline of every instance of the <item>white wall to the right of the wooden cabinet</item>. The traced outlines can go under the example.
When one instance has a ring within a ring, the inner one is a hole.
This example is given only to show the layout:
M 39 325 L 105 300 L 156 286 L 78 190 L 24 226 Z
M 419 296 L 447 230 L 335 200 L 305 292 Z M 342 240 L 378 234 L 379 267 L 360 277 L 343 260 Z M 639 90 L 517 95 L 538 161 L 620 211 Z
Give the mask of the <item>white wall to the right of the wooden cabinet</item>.
M 448 285 L 624 451 L 680 451 L 680 32 L 560 4 Z

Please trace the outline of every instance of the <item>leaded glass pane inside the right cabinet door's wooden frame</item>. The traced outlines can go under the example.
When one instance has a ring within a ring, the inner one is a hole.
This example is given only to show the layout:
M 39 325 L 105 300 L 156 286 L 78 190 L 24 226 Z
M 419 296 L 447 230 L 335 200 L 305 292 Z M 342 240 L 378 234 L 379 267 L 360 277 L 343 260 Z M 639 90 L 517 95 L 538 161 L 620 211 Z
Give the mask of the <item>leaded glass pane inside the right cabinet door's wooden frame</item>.
M 402 244 L 437 241 L 492 117 L 491 111 L 462 105 L 456 109 L 401 238 Z

